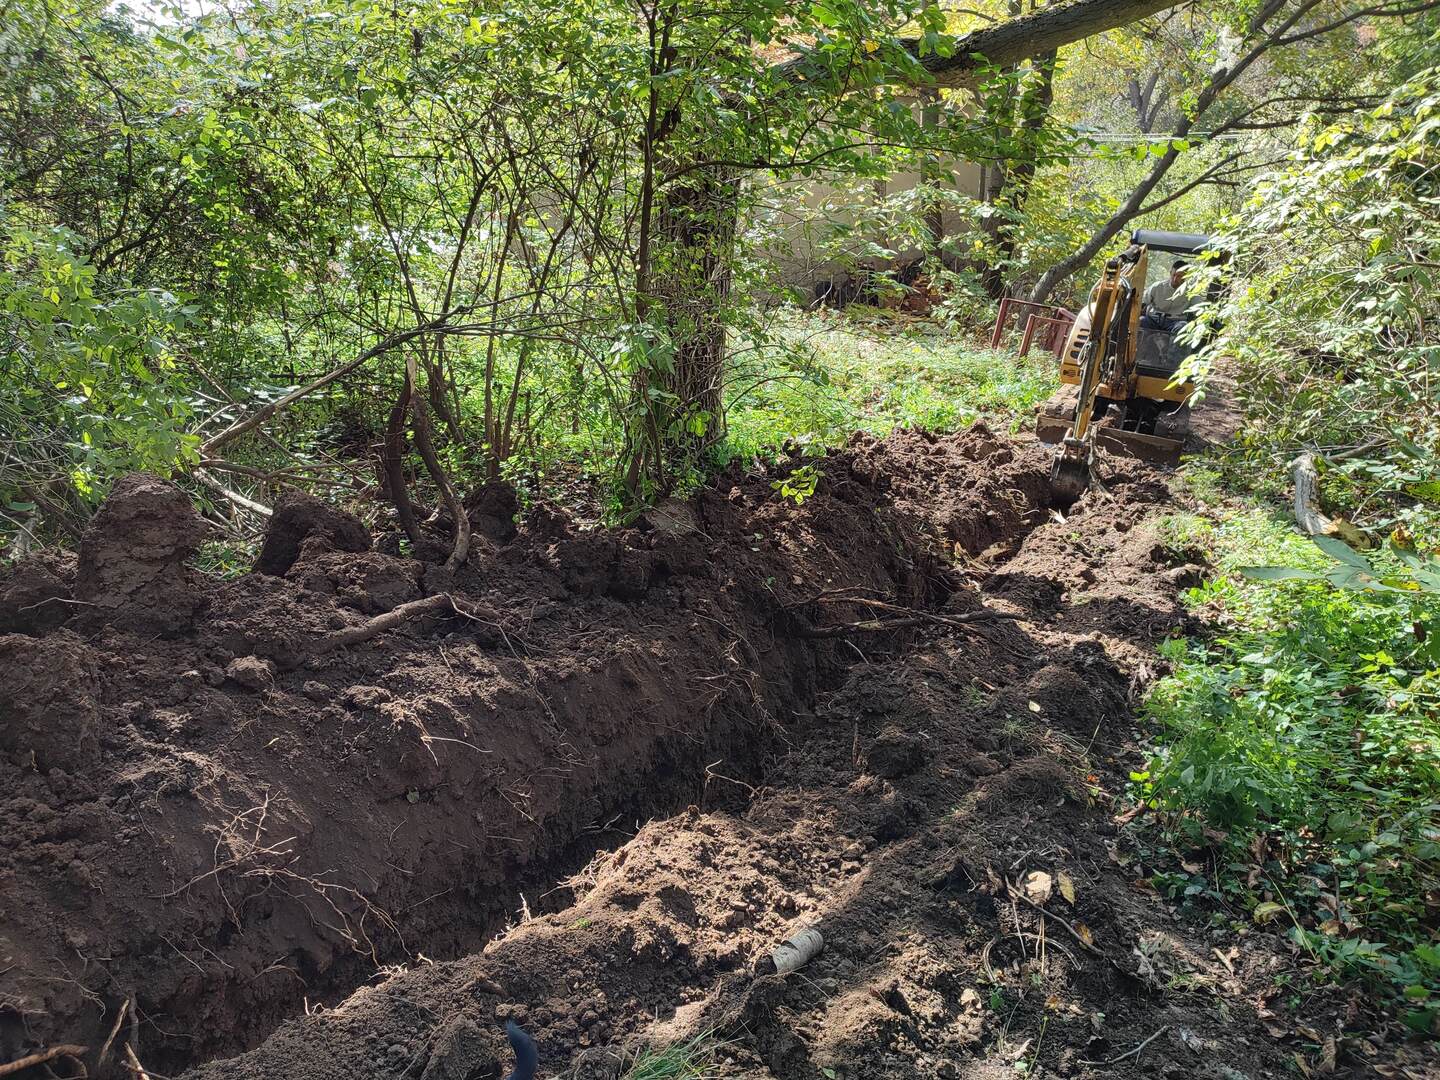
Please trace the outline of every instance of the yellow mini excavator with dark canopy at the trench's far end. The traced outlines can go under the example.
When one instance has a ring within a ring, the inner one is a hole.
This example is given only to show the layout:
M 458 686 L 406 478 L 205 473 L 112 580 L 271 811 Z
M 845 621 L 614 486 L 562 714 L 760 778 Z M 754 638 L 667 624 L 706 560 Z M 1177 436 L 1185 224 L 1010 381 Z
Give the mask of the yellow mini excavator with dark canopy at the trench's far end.
M 1208 236 L 1138 229 L 1104 264 L 1061 353 L 1060 382 L 1079 390 L 1051 399 L 1035 425 L 1044 442 L 1060 444 L 1050 472 L 1057 508 L 1068 510 L 1090 487 L 1097 442 L 1146 461 L 1179 461 L 1195 387 L 1176 382 L 1175 372 L 1194 346 L 1176 340 L 1175 321 L 1159 328 L 1156 320 L 1142 320 L 1140 308 L 1152 265 L 1168 274 L 1175 259 L 1210 249 Z

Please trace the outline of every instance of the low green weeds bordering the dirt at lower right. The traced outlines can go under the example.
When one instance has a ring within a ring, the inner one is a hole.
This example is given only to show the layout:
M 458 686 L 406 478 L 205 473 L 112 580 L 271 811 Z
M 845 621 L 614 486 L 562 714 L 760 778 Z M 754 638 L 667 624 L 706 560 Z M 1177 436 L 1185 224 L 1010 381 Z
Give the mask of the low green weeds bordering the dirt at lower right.
M 1138 793 L 1205 870 L 1156 884 L 1284 927 L 1326 972 L 1378 976 L 1440 1022 L 1440 595 L 1257 582 L 1243 566 L 1335 566 L 1260 504 L 1161 524 L 1218 573 L 1189 590 L 1217 634 L 1172 641 L 1146 711 Z M 1388 554 L 1380 572 L 1404 575 Z M 1194 861 L 1181 860 L 1187 865 Z

